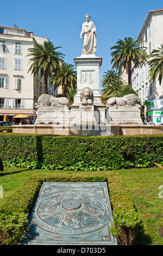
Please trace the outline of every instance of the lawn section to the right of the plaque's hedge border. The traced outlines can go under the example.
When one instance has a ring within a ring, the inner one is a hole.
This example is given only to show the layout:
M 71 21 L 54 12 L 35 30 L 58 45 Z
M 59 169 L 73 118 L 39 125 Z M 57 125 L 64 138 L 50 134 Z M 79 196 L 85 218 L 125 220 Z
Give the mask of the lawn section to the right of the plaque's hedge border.
M 146 221 L 142 245 L 163 245 L 163 170 L 160 168 L 117 171 L 130 191 L 136 209 Z

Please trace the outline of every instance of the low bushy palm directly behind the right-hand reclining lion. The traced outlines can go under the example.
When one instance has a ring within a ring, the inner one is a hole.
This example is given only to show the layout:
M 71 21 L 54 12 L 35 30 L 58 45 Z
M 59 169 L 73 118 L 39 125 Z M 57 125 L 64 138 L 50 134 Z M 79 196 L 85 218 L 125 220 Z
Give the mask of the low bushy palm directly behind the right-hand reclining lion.
M 127 84 L 126 82 L 120 79 L 115 80 L 112 84 L 106 85 L 104 89 L 101 91 L 104 104 L 110 97 L 120 97 L 120 94 L 122 93 L 122 89 L 124 87 L 127 87 Z

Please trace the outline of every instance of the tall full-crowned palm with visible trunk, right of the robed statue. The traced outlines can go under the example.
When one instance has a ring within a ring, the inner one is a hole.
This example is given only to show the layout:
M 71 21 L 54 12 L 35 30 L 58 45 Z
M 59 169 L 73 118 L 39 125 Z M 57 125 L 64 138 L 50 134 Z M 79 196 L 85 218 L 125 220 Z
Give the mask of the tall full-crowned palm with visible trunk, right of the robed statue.
M 139 68 L 142 64 L 147 62 L 147 53 L 145 47 L 142 47 L 143 41 L 137 41 L 133 38 L 124 38 L 124 40 L 118 40 L 115 46 L 112 46 L 111 52 L 111 64 L 112 69 L 118 70 L 120 74 L 123 69 L 126 69 L 128 74 L 128 86 L 131 87 L 131 62 L 133 62 L 135 68 Z

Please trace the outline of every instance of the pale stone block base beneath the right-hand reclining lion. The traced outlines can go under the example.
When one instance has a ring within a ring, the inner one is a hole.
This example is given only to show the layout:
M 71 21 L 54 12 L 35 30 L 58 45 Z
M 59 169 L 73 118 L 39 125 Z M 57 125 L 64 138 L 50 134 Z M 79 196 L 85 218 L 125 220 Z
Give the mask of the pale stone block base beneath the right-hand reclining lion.
M 109 107 L 106 111 L 108 124 L 139 124 L 143 125 L 140 117 L 140 108 L 132 107 Z

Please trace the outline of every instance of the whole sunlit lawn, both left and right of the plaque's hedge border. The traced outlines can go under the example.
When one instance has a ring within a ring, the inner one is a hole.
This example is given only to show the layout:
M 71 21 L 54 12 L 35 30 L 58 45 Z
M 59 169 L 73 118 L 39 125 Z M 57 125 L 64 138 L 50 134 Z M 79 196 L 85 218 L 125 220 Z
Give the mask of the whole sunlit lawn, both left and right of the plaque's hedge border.
M 3 187 L 3 198 L 0 198 L 0 205 L 34 172 L 51 173 L 53 171 L 4 167 L 4 172 L 0 172 L 0 185 Z M 70 173 L 70 171 L 68 172 Z M 133 197 L 136 209 L 145 219 L 146 234 L 144 237 L 140 237 L 140 245 L 163 245 L 163 191 L 161 193 L 159 190 L 159 187 L 163 185 L 163 170 L 157 167 L 121 169 L 116 172 L 121 175 Z

